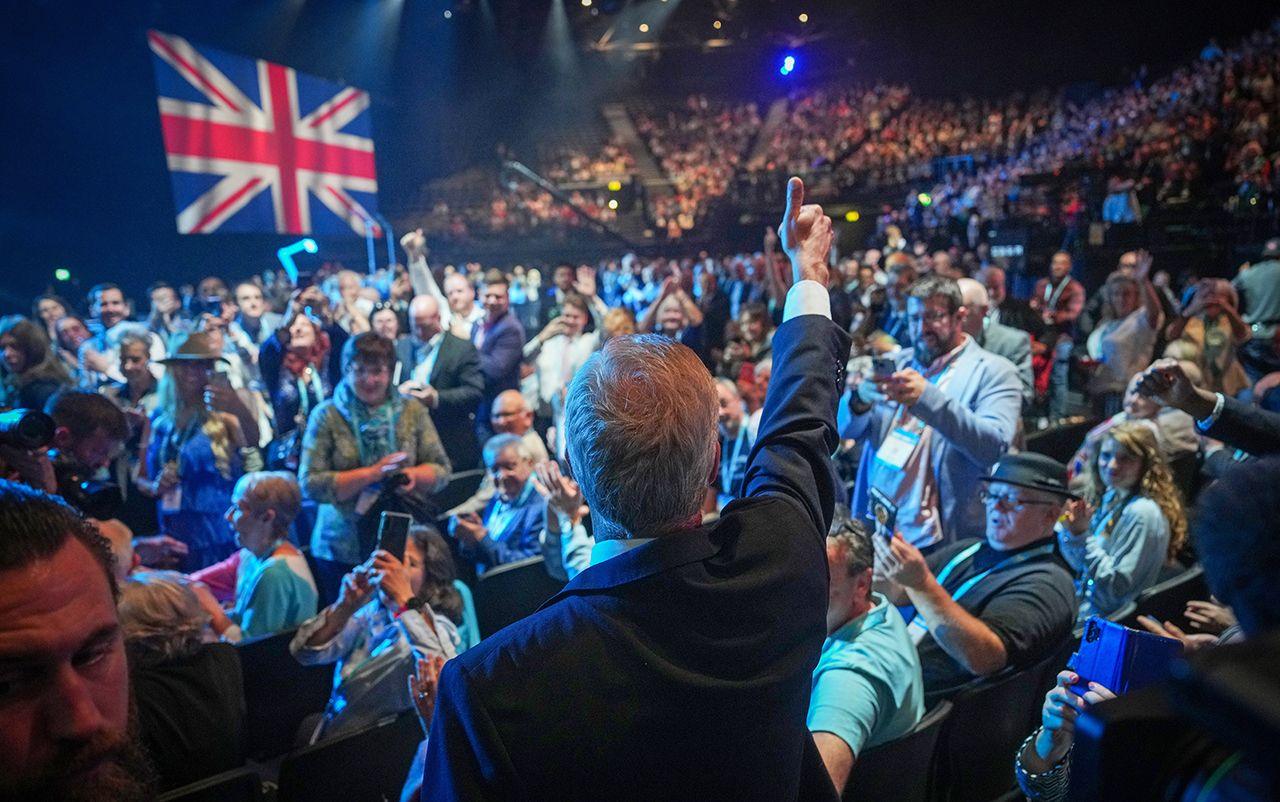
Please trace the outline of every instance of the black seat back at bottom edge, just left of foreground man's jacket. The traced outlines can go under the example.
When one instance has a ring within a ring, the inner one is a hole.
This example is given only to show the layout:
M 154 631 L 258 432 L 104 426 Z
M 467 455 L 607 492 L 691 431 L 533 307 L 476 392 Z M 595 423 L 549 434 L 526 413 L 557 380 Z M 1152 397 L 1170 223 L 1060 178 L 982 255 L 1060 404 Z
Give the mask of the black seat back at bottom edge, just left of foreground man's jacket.
M 321 741 L 280 764 L 278 802 L 399 799 L 422 727 L 412 711 Z

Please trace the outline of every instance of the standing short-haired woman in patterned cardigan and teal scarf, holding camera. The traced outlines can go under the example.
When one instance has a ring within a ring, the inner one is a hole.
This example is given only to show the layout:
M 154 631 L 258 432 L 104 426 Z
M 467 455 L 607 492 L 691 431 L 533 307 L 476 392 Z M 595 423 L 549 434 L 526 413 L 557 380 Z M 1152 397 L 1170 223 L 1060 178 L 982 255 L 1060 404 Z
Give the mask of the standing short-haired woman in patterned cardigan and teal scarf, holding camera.
M 298 480 L 319 503 L 311 555 L 321 599 L 372 551 L 379 513 L 422 517 L 449 459 L 426 407 L 392 384 L 396 345 L 365 331 L 347 342 L 344 377 L 307 421 Z

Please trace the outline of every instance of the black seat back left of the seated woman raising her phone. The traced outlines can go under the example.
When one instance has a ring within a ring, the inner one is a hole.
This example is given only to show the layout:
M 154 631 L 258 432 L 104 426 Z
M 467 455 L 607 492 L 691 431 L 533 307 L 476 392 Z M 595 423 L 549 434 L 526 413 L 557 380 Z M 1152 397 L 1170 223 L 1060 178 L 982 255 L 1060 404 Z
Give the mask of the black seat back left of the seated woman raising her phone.
M 333 689 L 332 665 L 301 665 L 289 654 L 293 629 L 237 646 L 244 674 L 248 756 L 266 760 L 293 746 L 298 725 L 321 712 Z

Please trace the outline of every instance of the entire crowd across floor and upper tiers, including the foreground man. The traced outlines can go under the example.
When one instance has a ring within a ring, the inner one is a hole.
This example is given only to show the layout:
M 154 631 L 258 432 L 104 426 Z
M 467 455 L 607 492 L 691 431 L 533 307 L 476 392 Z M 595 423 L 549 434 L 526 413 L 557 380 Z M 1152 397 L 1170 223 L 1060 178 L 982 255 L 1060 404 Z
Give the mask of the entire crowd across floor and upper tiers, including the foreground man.
M 1270 182 L 1274 37 L 1085 109 L 796 97 L 762 169 L 987 150 L 1004 161 L 964 180 L 1005 192 L 1068 157 L 1156 160 L 1198 197 L 1174 165 L 1216 141 Z M 636 119 L 673 233 L 760 127 L 701 97 Z M 1144 627 L 1185 651 L 1276 627 L 1280 239 L 1183 287 L 1130 251 L 1093 293 L 1059 251 L 1019 298 L 980 238 L 929 252 L 928 225 L 891 217 L 835 260 L 799 179 L 786 197 L 750 253 L 504 271 L 433 263 L 419 229 L 369 275 L 160 280 L 145 315 L 102 283 L 0 318 L 0 407 L 52 427 L 0 437 L 0 796 L 146 798 L 242 764 L 234 643 L 280 632 L 334 666 L 300 742 L 422 716 L 411 797 L 653 798 L 680 778 L 829 798 L 938 702 L 1194 564 L 1216 594 L 1188 608 L 1198 631 Z M 938 197 L 996 214 L 972 185 Z M 544 201 L 495 196 L 488 225 L 559 215 Z M 1079 429 L 1070 460 L 1028 449 L 1051 426 Z M 383 513 L 415 521 L 399 554 Z M 480 632 L 475 578 L 536 556 L 566 590 Z M 1114 696 L 1080 680 L 1060 674 L 1009 755 L 1033 798 L 1065 798 L 1074 720 Z

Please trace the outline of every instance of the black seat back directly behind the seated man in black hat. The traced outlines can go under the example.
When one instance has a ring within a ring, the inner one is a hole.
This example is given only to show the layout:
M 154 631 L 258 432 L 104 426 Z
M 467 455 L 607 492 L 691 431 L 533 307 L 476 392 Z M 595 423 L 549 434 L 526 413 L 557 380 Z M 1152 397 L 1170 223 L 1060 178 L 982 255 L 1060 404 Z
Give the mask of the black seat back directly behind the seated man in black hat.
M 1014 752 L 1030 734 L 1032 718 L 1039 718 L 1046 675 L 1062 665 L 1057 650 L 1037 665 L 1006 669 L 955 695 L 938 742 L 938 802 L 987 802 L 1014 788 Z

